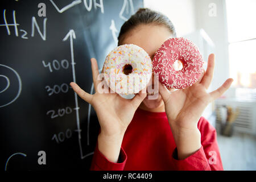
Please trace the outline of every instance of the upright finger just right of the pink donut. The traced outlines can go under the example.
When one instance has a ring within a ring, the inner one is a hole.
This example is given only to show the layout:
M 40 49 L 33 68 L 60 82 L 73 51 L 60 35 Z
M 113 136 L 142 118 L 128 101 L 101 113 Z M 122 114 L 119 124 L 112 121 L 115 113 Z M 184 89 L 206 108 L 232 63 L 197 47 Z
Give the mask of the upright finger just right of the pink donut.
M 205 72 L 202 78 L 202 81 L 200 82 L 205 86 L 206 89 L 209 88 L 210 82 L 212 82 L 214 65 L 215 65 L 215 55 L 212 53 L 208 57 L 207 71 Z

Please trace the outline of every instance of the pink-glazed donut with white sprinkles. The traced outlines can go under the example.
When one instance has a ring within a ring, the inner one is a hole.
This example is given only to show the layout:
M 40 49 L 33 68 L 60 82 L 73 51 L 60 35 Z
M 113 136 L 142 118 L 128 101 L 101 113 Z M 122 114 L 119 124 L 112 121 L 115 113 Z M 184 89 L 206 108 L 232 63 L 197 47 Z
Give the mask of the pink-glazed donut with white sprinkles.
M 178 60 L 183 68 L 176 71 Z M 184 89 L 195 84 L 204 71 L 204 61 L 199 49 L 185 38 L 166 40 L 156 51 L 152 64 L 154 73 L 159 74 L 159 81 L 167 88 L 174 89 Z

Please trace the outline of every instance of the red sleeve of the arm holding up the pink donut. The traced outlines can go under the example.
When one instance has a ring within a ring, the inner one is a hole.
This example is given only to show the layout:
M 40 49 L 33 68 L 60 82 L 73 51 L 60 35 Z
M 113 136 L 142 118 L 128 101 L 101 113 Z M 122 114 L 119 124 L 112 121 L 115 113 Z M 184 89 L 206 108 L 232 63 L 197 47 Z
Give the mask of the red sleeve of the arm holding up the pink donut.
M 177 160 L 177 148 L 172 157 L 176 170 L 223 170 L 220 151 L 218 150 L 216 130 L 204 117 L 199 119 L 201 148 L 188 158 Z

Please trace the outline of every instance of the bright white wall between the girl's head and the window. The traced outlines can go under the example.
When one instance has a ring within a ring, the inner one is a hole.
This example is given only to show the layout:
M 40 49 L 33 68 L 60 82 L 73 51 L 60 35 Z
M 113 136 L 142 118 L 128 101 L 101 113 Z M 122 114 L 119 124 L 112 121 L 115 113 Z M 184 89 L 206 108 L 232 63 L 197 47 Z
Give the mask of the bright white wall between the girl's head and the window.
M 209 16 L 210 3 L 216 5 L 216 16 Z M 228 31 L 224 0 L 144 0 L 144 7 L 166 14 L 174 23 L 178 37 L 203 28 L 215 45 L 213 53 L 216 55 L 216 66 L 211 88 L 217 89 L 229 78 Z

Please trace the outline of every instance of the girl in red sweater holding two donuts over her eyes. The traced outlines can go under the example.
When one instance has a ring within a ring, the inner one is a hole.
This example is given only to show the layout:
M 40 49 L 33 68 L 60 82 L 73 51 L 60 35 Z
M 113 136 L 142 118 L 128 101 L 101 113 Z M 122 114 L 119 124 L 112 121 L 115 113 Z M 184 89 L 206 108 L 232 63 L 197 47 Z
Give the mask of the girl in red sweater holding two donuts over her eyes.
M 176 36 L 171 21 L 149 9 L 139 9 L 121 27 L 118 46 L 135 44 L 151 59 L 162 43 Z M 222 170 L 216 130 L 201 117 L 205 107 L 220 97 L 232 78 L 207 93 L 213 78 L 214 55 L 196 84 L 170 92 L 159 83 L 159 97 L 146 92 L 126 100 L 116 93 L 98 93 L 98 65 L 91 59 L 95 94 L 71 82 L 73 90 L 96 111 L 100 134 L 92 170 Z M 154 79 L 152 79 L 154 80 Z M 154 83 L 152 83 L 154 84 Z

